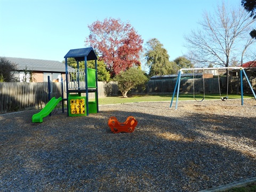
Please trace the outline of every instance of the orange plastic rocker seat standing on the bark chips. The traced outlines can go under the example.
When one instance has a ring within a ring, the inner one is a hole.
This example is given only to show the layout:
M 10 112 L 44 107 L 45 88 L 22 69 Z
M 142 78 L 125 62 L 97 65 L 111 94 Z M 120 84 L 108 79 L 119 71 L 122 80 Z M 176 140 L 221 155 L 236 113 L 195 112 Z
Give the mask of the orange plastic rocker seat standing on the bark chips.
M 127 117 L 124 123 L 118 122 L 116 117 L 110 117 L 108 119 L 108 126 L 110 127 L 113 133 L 119 133 L 119 132 L 131 133 L 134 131 L 135 126 L 137 124 L 138 124 L 138 121 L 133 116 Z

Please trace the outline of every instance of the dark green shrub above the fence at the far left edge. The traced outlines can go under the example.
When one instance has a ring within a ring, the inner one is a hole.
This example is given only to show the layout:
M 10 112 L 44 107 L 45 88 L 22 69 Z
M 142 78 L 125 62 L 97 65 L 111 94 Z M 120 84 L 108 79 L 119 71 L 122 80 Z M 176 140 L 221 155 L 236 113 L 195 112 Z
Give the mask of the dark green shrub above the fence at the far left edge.
M 0 58 L 0 82 L 15 82 L 17 65 L 7 60 L 5 57 Z

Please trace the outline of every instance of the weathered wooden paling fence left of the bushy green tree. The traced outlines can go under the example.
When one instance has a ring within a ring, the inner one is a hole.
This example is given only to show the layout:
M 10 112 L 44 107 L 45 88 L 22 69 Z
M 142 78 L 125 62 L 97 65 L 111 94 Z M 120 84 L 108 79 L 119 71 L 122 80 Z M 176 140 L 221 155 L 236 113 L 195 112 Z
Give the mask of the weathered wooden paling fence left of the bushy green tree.
M 63 84 L 66 98 L 66 84 Z M 51 98 L 61 97 L 61 83 L 51 83 Z M 48 83 L 0 83 L 0 113 L 24 109 L 41 109 L 49 101 Z M 117 95 L 116 82 L 98 82 L 99 97 Z M 89 99 L 94 98 L 89 93 Z

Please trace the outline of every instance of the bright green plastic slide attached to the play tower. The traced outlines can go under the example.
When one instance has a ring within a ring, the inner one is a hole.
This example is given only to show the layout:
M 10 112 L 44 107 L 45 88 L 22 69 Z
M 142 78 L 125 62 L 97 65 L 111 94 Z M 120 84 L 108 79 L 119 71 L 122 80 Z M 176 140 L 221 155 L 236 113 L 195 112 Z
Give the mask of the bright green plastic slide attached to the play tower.
M 45 107 L 37 114 L 34 114 L 32 117 L 33 123 L 42 123 L 43 118 L 46 117 L 51 113 L 51 111 L 57 106 L 57 104 L 62 100 L 62 98 L 56 99 L 53 97 L 46 105 Z

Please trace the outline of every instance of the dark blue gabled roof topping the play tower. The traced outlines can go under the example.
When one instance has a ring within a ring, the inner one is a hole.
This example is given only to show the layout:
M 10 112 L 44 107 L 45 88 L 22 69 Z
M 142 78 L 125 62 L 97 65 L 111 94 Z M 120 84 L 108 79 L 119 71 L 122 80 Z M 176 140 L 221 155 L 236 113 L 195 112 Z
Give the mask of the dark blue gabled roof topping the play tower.
M 92 47 L 69 50 L 64 58 L 75 58 L 76 61 L 84 61 L 84 57 L 87 61 L 98 59 Z

